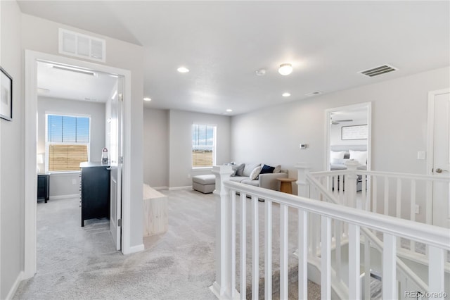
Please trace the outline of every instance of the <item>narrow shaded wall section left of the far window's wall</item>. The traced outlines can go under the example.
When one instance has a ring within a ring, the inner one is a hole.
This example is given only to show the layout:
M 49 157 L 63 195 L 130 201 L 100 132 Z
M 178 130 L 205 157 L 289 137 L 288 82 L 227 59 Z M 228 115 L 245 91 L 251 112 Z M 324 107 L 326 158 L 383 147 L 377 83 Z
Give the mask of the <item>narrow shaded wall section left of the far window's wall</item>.
M 143 110 L 143 182 L 169 187 L 169 111 Z

